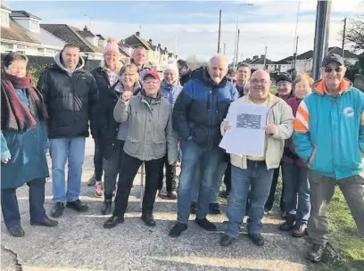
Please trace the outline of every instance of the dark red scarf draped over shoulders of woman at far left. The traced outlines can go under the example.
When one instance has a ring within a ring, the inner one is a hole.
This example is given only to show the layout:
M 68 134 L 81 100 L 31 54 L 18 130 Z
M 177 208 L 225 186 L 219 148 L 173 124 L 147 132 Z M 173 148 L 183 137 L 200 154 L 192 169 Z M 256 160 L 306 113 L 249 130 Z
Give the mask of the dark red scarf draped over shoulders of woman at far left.
M 15 88 L 26 89 L 29 93 L 29 111 L 21 103 L 21 99 L 16 94 Z M 39 91 L 31 85 L 31 79 L 14 77 L 3 73 L 1 78 L 2 90 L 2 129 L 12 129 L 24 132 L 31 127 L 35 127 L 37 115 L 39 119 L 47 119 L 48 113 L 45 103 Z M 33 112 L 34 111 L 34 112 Z M 33 115 L 32 115 L 33 113 Z M 3 116 L 4 115 L 4 116 Z

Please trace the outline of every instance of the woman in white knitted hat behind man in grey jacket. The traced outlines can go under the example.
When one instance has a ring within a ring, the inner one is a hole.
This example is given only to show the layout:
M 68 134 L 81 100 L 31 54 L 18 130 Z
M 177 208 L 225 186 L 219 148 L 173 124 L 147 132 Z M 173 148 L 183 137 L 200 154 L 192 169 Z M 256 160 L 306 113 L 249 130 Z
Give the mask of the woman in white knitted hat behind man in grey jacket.
M 178 67 L 176 64 L 169 64 L 164 69 L 164 79 L 161 81 L 161 95 L 170 103 L 173 111 L 174 104 L 182 90 L 182 86 L 178 81 Z M 176 135 L 177 136 L 177 135 Z M 164 162 L 161 165 L 160 178 L 158 184 L 159 195 L 161 196 L 161 189 L 163 188 L 163 168 L 166 168 L 166 188 L 167 198 L 171 200 L 177 199 L 176 193 L 176 165 L 170 165 L 168 156 L 164 157 Z

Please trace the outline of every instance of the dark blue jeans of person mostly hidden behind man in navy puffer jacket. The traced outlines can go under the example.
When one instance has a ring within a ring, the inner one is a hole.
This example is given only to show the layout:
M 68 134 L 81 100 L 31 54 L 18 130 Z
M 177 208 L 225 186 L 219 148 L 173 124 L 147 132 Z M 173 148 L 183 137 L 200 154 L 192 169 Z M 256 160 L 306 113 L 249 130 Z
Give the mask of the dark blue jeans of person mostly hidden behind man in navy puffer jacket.
M 219 188 L 221 186 L 222 177 L 225 174 L 226 168 L 227 168 L 227 161 L 222 160 L 222 158 L 221 158 L 221 160 L 219 161 L 219 165 L 216 168 L 215 174 L 213 175 L 212 192 L 211 192 L 211 198 L 210 198 L 209 203 L 218 203 Z M 197 167 L 195 175 L 196 175 L 196 178 L 194 181 L 194 190 L 193 190 L 193 195 L 192 195 L 192 201 L 194 201 L 194 202 L 196 202 L 198 199 L 198 192 L 199 192 L 199 188 L 200 188 L 200 168 L 199 167 Z

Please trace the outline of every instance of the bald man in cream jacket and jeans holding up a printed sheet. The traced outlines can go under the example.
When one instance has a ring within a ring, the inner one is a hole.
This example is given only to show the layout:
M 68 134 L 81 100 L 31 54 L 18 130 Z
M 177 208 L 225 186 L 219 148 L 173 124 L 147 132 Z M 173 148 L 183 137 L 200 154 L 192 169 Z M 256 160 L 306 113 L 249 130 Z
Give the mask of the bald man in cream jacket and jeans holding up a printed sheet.
M 249 197 L 248 237 L 264 245 L 261 218 L 268 199 L 273 169 L 279 167 L 285 139 L 292 136 L 294 115 L 284 100 L 269 93 L 269 73 L 256 70 L 249 94 L 231 103 L 221 124 L 220 147 L 231 157 L 231 193 L 227 204 L 228 225 L 220 245 L 228 246 L 239 234 Z M 246 144 L 248 142 L 249 144 Z M 250 193 L 249 193 L 249 188 Z

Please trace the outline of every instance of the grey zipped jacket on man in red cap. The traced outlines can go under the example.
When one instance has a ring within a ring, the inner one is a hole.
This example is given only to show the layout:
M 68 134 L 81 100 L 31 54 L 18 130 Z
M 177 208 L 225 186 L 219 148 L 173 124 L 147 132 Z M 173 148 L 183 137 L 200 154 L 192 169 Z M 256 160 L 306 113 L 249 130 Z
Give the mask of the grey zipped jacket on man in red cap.
M 114 119 L 128 122 L 128 134 L 124 152 L 138 160 L 157 160 L 168 155 L 170 162 L 178 161 L 177 136 L 172 127 L 170 103 L 161 94 L 151 103 L 141 94 L 127 102 L 121 99 L 116 104 Z

